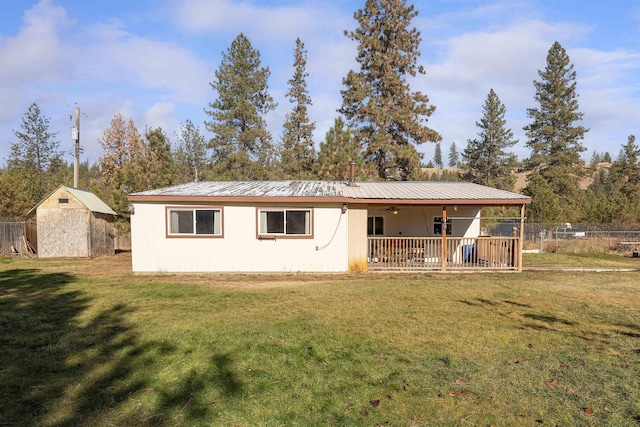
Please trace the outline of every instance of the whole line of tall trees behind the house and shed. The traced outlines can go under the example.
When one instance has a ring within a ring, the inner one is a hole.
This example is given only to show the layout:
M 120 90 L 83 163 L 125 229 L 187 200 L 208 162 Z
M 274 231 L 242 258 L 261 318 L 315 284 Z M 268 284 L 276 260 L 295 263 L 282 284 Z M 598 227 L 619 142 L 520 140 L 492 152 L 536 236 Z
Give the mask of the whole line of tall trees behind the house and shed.
M 185 120 L 170 141 L 161 128 L 140 130 L 116 114 L 100 144 L 96 164 L 81 164 L 79 185 L 111 205 L 126 227 L 126 194 L 195 180 L 345 180 L 349 162 L 361 180 L 464 180 L 513 190 L 525 172 L 523 192 L 532 196 L 528 217 L 537 222 L 640 221 L 640 150 L 629 136 L 609 168 L 586 168 L 581 158 L 588 129 L 581 126 L 576 72 L 566 50 L 555 42 L 538 71 L 534 106 L 524 127 L 530 150 L 518 161 L 518 142 L 508 127 L 506 107 L 490 89 L 476 122 L 477 136 L 449 151 L 455 172 L 430 176 L 418 146 L 435 143 L 432 166 L 442 167 L 441 136 L 428 126 L 435 106 L 410 83 L 425 74 L 418 63 L 420 32 L 411 25 L 418 11 L 405 0 L 367 0 L 354 14 L 357 28 L 345 36 L 357 43 L 358 69 L 343 78 L 342 105 L 334 125 L 313 140 L 313 105 L 307 89 L 307 51 L 297 39 L 286 100 L 291 104 L 274 142 L 265 116 L 277 103 L 269 93 L 270 70 L 260 52 L 240 33 L 222 53 L 210 83 L 216 94 L 205 108 L 203 129 Z M 49 119 L 32 104 L 14 131 L 6 166 L 0 170 L 0 218 L 26 213 L 60 184 L 70 185 L 72 165 L 62 160 Z M 592 164 L 611 160 L 594 152 Z M 580 183 L 592 176 L 588 188 Z

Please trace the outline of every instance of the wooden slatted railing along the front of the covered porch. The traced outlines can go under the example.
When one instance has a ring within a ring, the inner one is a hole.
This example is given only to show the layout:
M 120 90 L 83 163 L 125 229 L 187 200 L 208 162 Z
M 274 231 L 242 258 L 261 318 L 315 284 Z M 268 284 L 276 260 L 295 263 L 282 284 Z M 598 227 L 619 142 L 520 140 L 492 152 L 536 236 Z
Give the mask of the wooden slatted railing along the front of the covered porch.
M 369 237 L 369 270 L 517 270 L 517 237 Z M 445 260 L 443 262 L 443 260 Z

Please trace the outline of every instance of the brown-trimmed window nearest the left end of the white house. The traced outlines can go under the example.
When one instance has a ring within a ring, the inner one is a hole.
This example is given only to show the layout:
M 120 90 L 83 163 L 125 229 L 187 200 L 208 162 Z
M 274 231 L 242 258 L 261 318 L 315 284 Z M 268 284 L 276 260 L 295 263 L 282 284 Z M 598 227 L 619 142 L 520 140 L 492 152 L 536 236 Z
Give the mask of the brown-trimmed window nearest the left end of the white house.
M 168 236 L 222 237 L 222 209 L 167 208 Z

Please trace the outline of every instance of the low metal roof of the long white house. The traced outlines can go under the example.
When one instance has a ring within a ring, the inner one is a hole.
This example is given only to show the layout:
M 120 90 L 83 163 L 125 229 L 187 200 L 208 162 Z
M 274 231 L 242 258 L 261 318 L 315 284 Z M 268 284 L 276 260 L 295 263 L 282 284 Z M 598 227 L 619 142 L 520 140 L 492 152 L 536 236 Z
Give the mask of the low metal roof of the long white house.
M 531 198 L 469 182 L 209 181 L 134 193 L 134 202 L 305 201 L 381 203 L 527 204 Z

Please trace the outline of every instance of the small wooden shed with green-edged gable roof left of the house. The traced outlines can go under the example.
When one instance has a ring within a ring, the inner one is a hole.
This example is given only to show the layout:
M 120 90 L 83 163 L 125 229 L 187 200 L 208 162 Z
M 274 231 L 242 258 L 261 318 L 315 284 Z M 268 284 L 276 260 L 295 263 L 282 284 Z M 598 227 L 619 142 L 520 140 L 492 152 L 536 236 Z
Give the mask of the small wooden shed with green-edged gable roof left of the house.
M 113 255 L 116 212 L 90 191 L 59 186 L 38 203 L 39 258 Z

